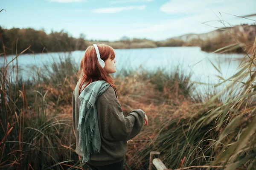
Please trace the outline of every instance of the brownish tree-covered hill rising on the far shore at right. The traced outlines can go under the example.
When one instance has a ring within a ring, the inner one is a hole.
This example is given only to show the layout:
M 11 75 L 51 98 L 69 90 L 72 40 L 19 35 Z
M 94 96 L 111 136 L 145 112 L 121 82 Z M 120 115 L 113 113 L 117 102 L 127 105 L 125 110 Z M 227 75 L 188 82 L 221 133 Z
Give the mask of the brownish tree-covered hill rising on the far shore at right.
M 246 49 L 247 52 L 251 53 L 255 37 L 256 25 L 244 24 L 220 28 L 204 34 L 185 34 L 180 37 L 169 38 L 161 43 L 169 45 L 179 44 L 180 46 L 200 46 L 202 51 L 209 52 L 216 51 L 227 45 L 239 43 L 241 45 L 237 48 L 225 52 L 243 53 Z

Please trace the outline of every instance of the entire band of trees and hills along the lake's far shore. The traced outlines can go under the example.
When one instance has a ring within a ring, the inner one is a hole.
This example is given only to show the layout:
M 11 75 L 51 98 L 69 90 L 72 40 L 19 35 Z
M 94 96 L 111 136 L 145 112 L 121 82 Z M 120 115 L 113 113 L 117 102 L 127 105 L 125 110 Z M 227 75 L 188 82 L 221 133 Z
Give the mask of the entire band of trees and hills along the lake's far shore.
M 230 29 L 230 28 L 228 28 Z M 256 26 L 235 26 L 231 30 L 222 31 L 211 39 L 202 39 L 200 37 L 185 40 L 182 38 L 169 38 L 163 41 L 153 41 L 148 39 L 139 39 L 122 37 L 118 41 L 101 41 L 101 40 L 86 40 L 84 34 L 80 34 L 79 38 L 70 36 L 64 30 L 60 32 L 52 31 L 46 34 L 45 31 L 35 30 L 33 28 L 12 28 L 3 29 L 0 27 L 0 32 L 6 49 L 6 54 L 20 53 L 24 49 L 31 47 L 26 53 L 41 53 L 41 52 L 58 52 L 58 51 L 76 51 L 85 50 L 87 46 L 93 43 L 105 43 L 115 49 L 122 48 L 156 48 L 156 47 L 176 47 L 176 46 L 199 46 L 202 51 L 215 51 L 219 48 L 231 45 L 237 42 L 249 42 L 251 45 L 254 42 L 253 37 L 256 36 Z M 216 30 L 218 31 L 218 30 Z M 198 34 L 200 36 L 200 34 Z M 3 54 L 2 40 L 0 39 L 0 54 Z M 242 53 L 247 45 L 239 48 L 231 49 L 226 52 Z

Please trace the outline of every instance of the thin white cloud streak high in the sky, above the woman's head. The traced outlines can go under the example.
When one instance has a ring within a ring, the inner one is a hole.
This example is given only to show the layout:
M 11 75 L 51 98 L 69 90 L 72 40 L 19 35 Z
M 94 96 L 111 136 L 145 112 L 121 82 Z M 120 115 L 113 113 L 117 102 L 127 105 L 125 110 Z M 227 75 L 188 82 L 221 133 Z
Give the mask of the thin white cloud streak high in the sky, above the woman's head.
M 141 6 L 124 6 L 124 7 L 113 7 L 113 8 L 97 8 L 97 9 L 93 9 L 92 12 L 95 12 L 95 13 L 118 13 L 121 11 L 129 11 L 129 10 L 133 10 L 133 9 L 144 10 L 145 7 L 146 7 L 145 5 L 141 5 Z

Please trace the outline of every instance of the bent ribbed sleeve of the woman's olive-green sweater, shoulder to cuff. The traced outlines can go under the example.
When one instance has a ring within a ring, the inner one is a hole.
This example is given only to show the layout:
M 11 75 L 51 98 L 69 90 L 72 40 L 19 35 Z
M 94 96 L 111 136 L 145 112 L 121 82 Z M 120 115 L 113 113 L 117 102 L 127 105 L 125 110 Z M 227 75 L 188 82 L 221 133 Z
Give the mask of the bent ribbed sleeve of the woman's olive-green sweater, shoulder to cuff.
M 145 112 L 138 109 L 124 116 L 113 87 L 110 86 L 99 97 L 97 105 L 98 113 L 104 114 L 100 122 L 102 122 L 101 128 L 105 139 L 127 141 L 140 133 L 144 125 Z

